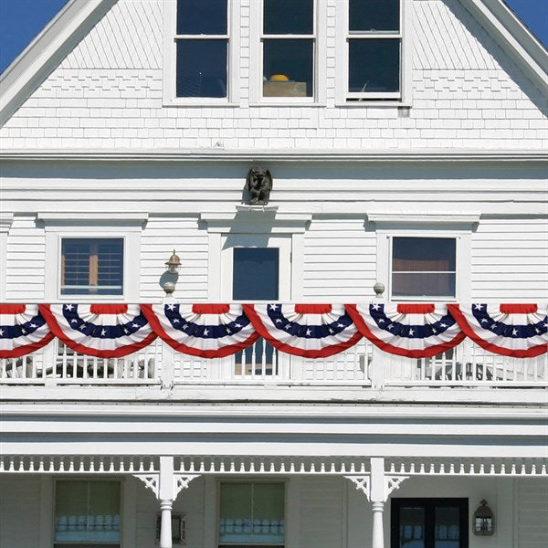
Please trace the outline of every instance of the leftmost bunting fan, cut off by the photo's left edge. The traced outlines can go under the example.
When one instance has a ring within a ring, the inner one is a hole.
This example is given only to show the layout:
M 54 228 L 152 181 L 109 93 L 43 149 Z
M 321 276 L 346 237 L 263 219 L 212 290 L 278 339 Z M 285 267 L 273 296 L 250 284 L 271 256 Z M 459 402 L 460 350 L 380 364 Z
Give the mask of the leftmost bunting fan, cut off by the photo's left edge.
M 37 304 L 0 304 L 0 358 L 18 358 L 53 339 Z

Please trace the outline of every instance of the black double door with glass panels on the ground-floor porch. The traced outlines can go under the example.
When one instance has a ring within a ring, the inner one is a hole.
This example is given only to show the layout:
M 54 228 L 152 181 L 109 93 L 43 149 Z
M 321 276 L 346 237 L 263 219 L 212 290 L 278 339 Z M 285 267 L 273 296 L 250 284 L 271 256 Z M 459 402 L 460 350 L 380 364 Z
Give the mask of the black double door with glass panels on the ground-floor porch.
M 391 548 L 468 548 L 468 499 L 392 499 Z

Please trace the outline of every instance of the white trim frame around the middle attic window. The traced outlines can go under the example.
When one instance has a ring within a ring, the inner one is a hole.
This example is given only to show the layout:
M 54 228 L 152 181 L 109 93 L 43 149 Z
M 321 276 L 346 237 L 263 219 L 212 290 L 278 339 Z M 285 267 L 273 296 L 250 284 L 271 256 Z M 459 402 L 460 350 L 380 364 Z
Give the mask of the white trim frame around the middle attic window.
M 263 2 L 253 0 L 249 8 L 249 104 L 251 106 L 320 106 L 325 103 L 326 63 L 325 33 L 327 28 L 327 2 L 313 0 L 314 28 L 312 35 L 265 35 L 263 33 Z M 312 39 L 311 97 L 263 97 L 263 38 L 269 37 Z

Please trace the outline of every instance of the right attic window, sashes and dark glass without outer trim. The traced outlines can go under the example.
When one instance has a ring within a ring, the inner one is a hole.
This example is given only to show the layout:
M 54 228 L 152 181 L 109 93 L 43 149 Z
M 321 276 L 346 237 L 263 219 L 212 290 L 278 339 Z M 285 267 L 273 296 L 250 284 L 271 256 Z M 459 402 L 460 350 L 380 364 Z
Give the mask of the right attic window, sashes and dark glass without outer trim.
M 400 0 L 349 0 L 347 99 L 399 99 Z

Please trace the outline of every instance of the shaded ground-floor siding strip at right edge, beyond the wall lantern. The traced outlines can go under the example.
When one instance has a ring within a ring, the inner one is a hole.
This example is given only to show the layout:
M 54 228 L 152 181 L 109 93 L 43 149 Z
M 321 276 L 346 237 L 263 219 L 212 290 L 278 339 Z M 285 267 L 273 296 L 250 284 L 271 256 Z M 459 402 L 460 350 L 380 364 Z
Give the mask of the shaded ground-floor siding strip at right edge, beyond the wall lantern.
M 518 546 L 548 546 L 548 483 L 535 479 L 518 481 Z

